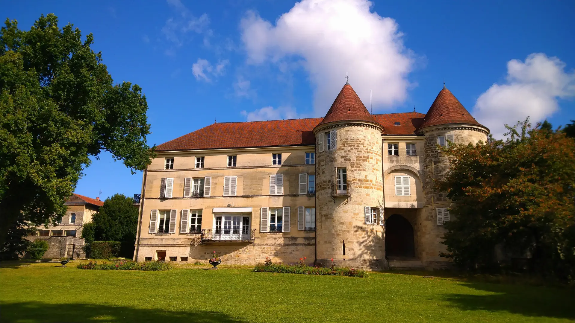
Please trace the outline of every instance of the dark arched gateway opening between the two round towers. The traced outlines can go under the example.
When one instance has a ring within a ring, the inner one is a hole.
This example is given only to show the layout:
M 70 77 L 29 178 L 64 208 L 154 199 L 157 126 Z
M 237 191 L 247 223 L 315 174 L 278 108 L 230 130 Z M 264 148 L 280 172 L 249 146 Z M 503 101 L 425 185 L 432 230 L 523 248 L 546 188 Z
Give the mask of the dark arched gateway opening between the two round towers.
M 413 226 L 399 214 L 393 214 L 385 220 L 385 255 L 415 257 Z

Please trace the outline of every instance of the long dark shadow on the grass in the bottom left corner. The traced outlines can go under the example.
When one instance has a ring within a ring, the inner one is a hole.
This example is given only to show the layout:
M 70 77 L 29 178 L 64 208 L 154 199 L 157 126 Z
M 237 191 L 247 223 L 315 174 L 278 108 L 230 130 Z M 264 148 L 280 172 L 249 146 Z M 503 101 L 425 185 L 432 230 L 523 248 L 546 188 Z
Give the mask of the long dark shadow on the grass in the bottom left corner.
M 0 302 L 2 322 L 174 322 L 240 323 L 220 312 L 171 312 L 161 309 L 94 305 L 83 303 Z

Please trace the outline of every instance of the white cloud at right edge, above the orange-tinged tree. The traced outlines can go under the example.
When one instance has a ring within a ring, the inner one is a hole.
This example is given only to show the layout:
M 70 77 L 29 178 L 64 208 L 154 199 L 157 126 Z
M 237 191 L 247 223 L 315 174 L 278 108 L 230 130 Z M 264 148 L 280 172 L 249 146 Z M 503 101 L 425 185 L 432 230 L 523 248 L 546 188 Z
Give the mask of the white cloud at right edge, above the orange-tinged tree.
M 557 99 L 575 97 L 575 72 L 565 72 L 565 63 L 544 53 L 532 53 L 525 62 L 507 62 L 507 78 L 494 83 L 477 99 L 473 114 L 493 136 L 503 137 L 504 124 L 515 125 L 530 117 L 543 121 L 559 109 Z

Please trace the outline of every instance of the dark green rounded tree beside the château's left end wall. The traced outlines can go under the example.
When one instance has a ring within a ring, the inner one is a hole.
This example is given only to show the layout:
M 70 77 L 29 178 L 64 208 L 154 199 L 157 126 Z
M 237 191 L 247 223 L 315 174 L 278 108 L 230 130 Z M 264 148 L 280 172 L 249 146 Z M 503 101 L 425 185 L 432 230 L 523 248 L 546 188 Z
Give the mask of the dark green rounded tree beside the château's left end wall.
M 91 241 L 136 241 L 138 209 L 134 200 L 124 194 L 114 194 L 106 198 L 99 213 L 94 214 L 93 222 L 82 229 L 82 237 Z

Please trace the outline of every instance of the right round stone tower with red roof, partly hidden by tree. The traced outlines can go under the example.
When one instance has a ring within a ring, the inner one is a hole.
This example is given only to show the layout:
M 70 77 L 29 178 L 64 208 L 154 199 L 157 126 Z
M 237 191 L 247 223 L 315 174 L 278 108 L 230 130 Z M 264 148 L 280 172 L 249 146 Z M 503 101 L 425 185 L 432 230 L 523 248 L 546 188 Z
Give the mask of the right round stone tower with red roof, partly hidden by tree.
M 434 190 L 434 179 L 440 179 L 449 170 L 448 157 L 439 152 L 439 145 L 447 145 L 448 141 L 462 144 L 476 144 L 487 140 L 489 129 L 475 120 L 447 90 L 445 85 L 425 114 L 417 133 L 424 139 L 424 196 L 425 206 L 421 213 L 420 245 L 423 247 L 421 261 L 426 268 L 442 268 L 446 266 L 446 258 L 439 257 L 440 252 L 446 252 L 446 246 L 439 242 L 446 230 L 443 228 L 444 212 L 451 206 L 447 193 Z M 439 209 L 439 210 L 438 210 Z M 439 215 L 439 216 L 438 216 Z M 447 219 L 447 218 L 446 218 Z

